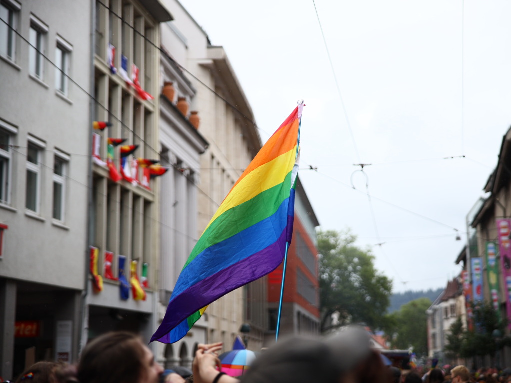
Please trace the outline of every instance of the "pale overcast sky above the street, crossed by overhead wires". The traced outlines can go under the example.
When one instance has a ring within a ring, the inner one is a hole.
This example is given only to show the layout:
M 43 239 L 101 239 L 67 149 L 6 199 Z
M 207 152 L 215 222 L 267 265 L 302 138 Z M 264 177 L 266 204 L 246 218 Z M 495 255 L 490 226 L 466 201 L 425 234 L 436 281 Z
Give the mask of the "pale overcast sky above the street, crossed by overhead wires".
M 459 274 L 511 125 L 511 2 L 181 4 L 227 52 L 263 141 L 305 101 L 299 177 L 321 229 L 350 228 L 395 292 Z

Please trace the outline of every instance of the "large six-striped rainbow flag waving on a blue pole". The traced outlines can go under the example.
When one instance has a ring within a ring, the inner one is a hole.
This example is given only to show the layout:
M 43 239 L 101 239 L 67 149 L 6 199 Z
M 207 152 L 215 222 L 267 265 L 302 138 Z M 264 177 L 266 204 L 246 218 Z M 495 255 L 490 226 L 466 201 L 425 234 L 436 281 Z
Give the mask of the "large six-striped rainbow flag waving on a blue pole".
M 151 342 L 177 342 L 208 304 L 281 264 L 293 231 L 302 109 L 295 108 L 230 189 L 184 264 Z

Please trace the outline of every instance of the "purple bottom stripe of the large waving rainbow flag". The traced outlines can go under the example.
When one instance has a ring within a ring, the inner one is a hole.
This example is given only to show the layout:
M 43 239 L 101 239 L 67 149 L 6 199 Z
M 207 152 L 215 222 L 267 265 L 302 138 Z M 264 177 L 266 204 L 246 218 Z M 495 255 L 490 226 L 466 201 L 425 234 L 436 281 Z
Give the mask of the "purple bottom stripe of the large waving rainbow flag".
M 153 334 L 151 342 L 165 337 L 172 328 L 226 293 L 275 270 L 281 264 L 286 251 L 286 230 L 278 240 L 237 264 L 195 283 L 175 298 L 171 298 L 164 319 Z M 173 311 L 177 307 L 178 311 Z

